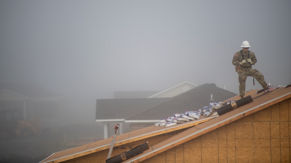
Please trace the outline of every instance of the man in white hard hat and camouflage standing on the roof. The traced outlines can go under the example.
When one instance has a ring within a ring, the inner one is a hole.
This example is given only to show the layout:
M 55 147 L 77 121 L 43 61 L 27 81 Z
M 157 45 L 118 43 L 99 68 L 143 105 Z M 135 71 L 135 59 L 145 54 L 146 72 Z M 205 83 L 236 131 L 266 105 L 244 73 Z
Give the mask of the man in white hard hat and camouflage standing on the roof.
M 257 63 L 254 52 L 248 50 L 251 46 L 248 41 L 241 44 L 242 50 L 236 52 L 232 58 L 232 64 L 236 66 L 236 71 L 239 74 L 239 96 L 244 98 L 246 90 L 246 78 L 248 76 L 254 77 L 264 88 L 267 90 L 267 83 L 265 82 L 264 75 L 258 70 L 253 69 L 252 65 Z

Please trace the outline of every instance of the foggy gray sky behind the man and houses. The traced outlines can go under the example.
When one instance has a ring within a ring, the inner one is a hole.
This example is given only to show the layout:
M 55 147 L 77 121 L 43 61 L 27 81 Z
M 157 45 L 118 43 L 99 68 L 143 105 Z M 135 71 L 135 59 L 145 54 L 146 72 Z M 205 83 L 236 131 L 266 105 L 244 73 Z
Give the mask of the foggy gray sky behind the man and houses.
M 290 0 L 0 0 L 0 82 L 79 99 L 76 110 L 94 110 L 114 91 L 185 80 L 238 93 L 231 61 L 247 40 L 258 59 L 253 68 L 272 85 L 288 85 L 290 15 Z M 246 90 L 260 89 L 252 80 Z

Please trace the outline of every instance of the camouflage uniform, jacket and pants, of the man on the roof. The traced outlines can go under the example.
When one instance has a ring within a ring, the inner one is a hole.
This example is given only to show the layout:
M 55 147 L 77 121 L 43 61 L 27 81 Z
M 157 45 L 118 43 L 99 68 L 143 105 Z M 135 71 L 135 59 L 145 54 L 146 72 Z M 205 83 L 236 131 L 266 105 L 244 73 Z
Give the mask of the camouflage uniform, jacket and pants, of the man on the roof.
M 248 53 L 250 54 L 250 59 L 252 60 L 252 64 L 249 62 L 246 62 L 242 65 L 240 65 L 239 62 L 243 60 L 241 57 L 241 54 L 244 55 L 244 59 L 248 59 Z M 262 73 L 260 73 L 258 70 L 251 68 L 252 65 L 254 65 L 257 62 L 256 56 L 254 52 L 251 52 L 248 50 L 248 52 L 244 53 L 243 51 L 238 51 L 234 54 L 232 58 L 232 64 L 234 66 L 241 66 L 241 68 L 238 71 L 239 74 L 239 96 L 245 95 L 246 90 L 246 78 L 248 76 L 254 77 L 261 85 L 262 87 L 267 86 L 267 83 L 265 82 L 264 76 Z

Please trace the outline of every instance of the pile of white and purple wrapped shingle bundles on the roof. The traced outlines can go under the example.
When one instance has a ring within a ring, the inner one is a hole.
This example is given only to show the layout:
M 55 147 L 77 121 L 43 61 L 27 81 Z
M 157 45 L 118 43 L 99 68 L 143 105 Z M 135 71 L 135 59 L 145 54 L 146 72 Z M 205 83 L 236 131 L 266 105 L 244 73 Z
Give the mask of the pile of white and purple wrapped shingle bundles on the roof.
M 178 123 L 199 119 L 201 115 L 205 115 L 205 117 L 218 115 L 216 110 L 224 105 L 230 104 L 231 102 L 233 101 L 229 100 L 228 102 L 209 103 L 209 106 L 204 106 L 202 109 L 198 109 L 198 111 L 186 111 L 181 114 L 174 113 L 173 116 L 160 119 L 160 122 L 155 123 L 155 126 L 167 127 Z

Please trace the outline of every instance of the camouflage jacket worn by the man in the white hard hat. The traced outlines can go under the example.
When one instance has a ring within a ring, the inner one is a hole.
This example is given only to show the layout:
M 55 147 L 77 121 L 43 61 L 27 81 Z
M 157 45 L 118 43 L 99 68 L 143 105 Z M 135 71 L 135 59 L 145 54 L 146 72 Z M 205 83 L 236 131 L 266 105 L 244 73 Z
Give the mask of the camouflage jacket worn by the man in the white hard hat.
M 249 67 L 251 65 L 254 65 L 257 63 L 257 58 L 255 56 L 254 52 L 248 51 L 250 53 L 250 59 L 252 60 L 253 64 L 250 64 L 248 61 L 245 64 L 242 64 L 241 66 L 244 67 Z M 248 52 L 247 53 L 243 53 L 244 55 L 244 59 L 247 60 L 248 59 Z M 233 58 L 232 58 L 232 64 L 234 66 L 240 66 L 239 62 L 241 62 L 243 59 L 241 57 L 241 51 L 238 51 L 237 53 L 234 54 Z

